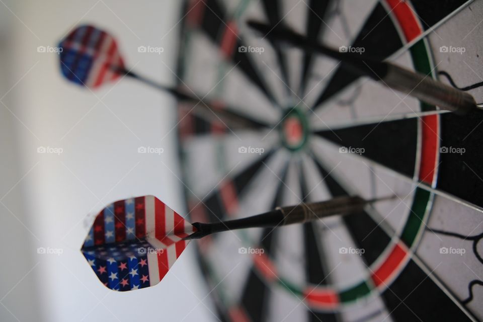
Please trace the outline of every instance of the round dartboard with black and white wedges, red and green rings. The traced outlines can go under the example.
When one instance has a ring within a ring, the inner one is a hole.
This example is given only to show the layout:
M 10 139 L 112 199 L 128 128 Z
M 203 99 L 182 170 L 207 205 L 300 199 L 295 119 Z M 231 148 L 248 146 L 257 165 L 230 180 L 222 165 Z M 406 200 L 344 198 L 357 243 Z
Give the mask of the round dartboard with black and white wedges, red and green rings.
M 358 214 L 200 240 L 218 319 L 483 318 L 483 112 L 440 110 L 247 25 L 289 27 L 437 78 L 481 103 L 482 18 L 483 1 L 184 4 L 179 86 L 215 102 L 213 111 L 234 110 L 259 125 L 232 128 L 179 103 L 192 222 L 336 196 L 394 196 Z

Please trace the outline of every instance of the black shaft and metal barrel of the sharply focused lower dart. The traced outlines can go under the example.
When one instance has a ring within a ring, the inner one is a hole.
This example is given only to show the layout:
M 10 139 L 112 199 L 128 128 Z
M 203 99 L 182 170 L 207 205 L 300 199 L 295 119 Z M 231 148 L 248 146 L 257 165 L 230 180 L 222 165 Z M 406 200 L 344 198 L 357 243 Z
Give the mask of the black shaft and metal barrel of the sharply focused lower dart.
M 214 223 L 195 222 L 197 231 L 186 239 L 196 239 L 211 233 L 251 228 L 277 227 L 294 223 L 304 223 L 333 215 L 348 215 L 361 212 L 371 202 L 381 199 L 364 200 L 360 197 L 337 197 L 327 201 L 300 203 L 296 206 L 277 207 L 275 210 L 247 218 Z

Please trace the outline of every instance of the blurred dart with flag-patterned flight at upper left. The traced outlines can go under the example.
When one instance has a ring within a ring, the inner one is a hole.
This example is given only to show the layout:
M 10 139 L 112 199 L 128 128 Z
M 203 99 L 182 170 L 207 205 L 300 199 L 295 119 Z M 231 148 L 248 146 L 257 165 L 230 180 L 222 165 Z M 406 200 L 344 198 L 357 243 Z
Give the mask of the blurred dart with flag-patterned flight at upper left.
M 192 102 L 193 112 L 208 120 L 221 120 L 230 128 L 268 127 L 262 121 L 248 115 L 234 112 L 234 108 L 209 102 L 188 94 L 180 89 L 158 84 L 125 67 L 116 40 L 104 30 L 91 25 L 82 25 L 73 29 L 58 45 L 60 70 L 69 81 L 81 87 L 96 90 L 111 83 L 121 76 L 136 79 L 156 90 L 169 93 L 180 101 Z

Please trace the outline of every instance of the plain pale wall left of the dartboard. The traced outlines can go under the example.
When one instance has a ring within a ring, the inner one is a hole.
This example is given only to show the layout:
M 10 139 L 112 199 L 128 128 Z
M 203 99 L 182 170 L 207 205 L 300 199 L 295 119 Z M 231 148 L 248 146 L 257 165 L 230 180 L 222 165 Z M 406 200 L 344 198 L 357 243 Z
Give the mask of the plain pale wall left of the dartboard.
M 186 213 L 175 101 L 131 79 L 77 87 L 42 49 L 94 24 L 117 38 L 128 68 L 175 84 L 180 5 L 0 0 L 1 321 L 215 319 L 191 247 L 157 286 L 126 293 L 104 287 L 79 252 L 88 214 L 114 200 L 152 194 Z

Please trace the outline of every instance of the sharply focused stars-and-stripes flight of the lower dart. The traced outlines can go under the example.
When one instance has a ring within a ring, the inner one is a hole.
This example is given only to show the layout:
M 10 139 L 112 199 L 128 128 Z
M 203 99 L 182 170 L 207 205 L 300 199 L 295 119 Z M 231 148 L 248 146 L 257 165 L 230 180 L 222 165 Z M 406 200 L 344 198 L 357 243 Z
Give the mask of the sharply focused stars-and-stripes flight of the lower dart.
M 194 231 L 156 197 L 130 198 L 99 212 L 81 251 L 106 287 L 129 291 L 159 283 Z

